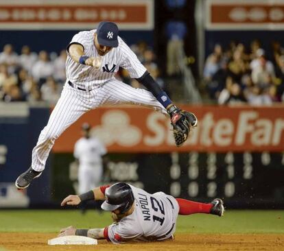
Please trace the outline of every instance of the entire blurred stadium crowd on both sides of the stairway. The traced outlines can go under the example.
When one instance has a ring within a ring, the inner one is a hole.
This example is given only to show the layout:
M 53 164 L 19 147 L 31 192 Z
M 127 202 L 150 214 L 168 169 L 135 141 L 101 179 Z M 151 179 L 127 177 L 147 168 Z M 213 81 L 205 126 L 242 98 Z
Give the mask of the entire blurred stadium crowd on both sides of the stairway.
M 152 48 L 140 42 L 131 49 L 165 89 Z M 35 53 L 24 45 L 18 54 L 12 45 L 5 45 L 0 53 L 0 101 L 45 101 L 54 106 L 66 80 L 66 58 L 65 49 L 59 55 Z M 135 88 L 144 88 L 123 69 L 117 77 Z M 206 58 L 203 77 L 209 96 L 218 104 L 270 105 L 284 101 L 284 49 L 274 42 L 267 53 L 258 40 L 250 43 L 250 52 L 241 43 L 232 42 L 226 50 L 217 44 Z

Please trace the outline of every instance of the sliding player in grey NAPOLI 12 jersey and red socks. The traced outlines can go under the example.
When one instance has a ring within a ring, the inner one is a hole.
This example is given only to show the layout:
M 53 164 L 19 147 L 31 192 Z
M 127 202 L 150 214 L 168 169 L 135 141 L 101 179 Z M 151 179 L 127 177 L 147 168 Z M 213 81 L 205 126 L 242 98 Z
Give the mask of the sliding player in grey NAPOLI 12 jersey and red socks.
M 223 202 L 215 199 L 205 204 L 175 199 L 163 192 L 147 193 L 130 184 L 119 182 L 112 186 L 97 187 L 82 195 L 69 195 L 61 206 L 78 205 L 86 200 L 105 200 L 102 208 L 111 211 L 115 223 L 106 228 L 60 230 L 59 237 L 81 235 L 94 239 L 107 239 L 113 243 L 127 241 L 163 241 L 173 238 L 178 215 L 210 213 L 222 216 Z

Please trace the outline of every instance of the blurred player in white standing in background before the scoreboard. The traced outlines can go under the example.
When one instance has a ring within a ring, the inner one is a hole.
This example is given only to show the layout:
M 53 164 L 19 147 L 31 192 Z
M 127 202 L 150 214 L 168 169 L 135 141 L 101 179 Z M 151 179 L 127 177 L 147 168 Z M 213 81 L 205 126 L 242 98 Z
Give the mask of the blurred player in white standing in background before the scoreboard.
M 74 146 L 74 157 L 79 164 L 78 192 L 86 193 L 99 187 L 104 174 L 103 165 L 107 162 L 106 147 L 99 139 L 91 136 L 91 125 L 82 124 L 82 138 Z M 81 205 L 82 212 L 86 211 L 86 203 Z

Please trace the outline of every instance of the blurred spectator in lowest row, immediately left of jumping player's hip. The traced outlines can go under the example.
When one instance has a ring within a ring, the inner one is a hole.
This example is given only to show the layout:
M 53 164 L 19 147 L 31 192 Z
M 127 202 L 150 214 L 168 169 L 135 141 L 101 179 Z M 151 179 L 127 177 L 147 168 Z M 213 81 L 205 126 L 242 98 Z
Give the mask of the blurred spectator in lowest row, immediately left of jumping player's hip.
M 62 88 L 56 84 L 53 77 L 47 77 L 47 81 L 40 88 L 42 99 L 52 106 L 58 101 L 61 91 Z

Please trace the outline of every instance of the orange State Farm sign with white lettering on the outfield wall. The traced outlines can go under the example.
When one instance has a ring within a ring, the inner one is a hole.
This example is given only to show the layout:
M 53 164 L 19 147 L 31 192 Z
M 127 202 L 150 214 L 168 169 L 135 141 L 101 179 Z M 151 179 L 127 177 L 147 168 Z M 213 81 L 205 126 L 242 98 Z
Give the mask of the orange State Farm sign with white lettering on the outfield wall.
M 284 151 L 284 106 L 182 106 L 199 119 L 188 141 L 176 147 L 169 118 L 146 108 L 98 108 L 86 113 L 56 141 L 54 152 L 73 152 L 88 121 L 109 152 Z

